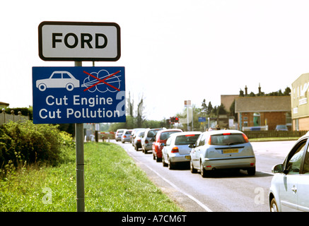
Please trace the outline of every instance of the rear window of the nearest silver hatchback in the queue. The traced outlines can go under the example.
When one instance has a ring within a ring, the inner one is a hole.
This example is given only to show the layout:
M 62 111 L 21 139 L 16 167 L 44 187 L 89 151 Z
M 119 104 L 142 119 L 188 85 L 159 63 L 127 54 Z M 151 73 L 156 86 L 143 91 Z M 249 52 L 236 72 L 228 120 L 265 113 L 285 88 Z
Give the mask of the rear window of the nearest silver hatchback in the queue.
M 242 133 L 228 133 L 211 136 L 211 145 L 235 145 L 246 143 Z

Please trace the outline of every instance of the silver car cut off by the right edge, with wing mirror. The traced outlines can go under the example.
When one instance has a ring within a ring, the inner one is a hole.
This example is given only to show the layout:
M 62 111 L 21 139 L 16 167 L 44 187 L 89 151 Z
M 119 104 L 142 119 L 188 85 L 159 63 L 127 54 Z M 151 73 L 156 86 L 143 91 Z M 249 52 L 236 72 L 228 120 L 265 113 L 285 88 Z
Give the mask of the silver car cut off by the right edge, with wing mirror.
M 309 211 L 309 132 L 298 139 L 283 164 L 272 168 L 269 189 L 272 212 Z

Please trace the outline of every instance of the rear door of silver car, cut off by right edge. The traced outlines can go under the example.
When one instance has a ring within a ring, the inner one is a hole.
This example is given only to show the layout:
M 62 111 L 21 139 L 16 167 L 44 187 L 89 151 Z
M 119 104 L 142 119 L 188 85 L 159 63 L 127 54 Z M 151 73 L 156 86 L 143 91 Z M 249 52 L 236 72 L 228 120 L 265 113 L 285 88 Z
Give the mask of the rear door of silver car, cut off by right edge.
M 309 151 L 306 148 L 302 174 L 298 177 L 297 201 L 298 210 L 309 212 Z

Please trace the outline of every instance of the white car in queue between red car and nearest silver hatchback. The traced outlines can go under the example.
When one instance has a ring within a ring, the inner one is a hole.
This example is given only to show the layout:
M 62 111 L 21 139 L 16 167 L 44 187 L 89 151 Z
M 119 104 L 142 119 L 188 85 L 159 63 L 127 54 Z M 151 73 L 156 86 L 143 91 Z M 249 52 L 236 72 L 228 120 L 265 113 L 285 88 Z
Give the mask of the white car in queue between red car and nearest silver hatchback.
M 179 132 L 170 135 L 163 145 L 162 162 L 163 167 L 168 166 L 174 169 L 175 165 L 180 162 L 190 162 L 189 145 L 195 143 L 201 132 Z

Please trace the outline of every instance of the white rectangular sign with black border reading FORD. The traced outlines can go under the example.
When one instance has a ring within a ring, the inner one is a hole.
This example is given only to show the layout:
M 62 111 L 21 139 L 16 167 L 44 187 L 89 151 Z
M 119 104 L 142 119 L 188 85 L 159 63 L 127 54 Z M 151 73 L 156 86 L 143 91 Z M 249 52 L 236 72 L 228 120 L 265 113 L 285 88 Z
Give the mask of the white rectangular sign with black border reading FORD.
M 39 56 L 45 61 L 117 61 L 117 23 L 52 22 L 39 25 Z

